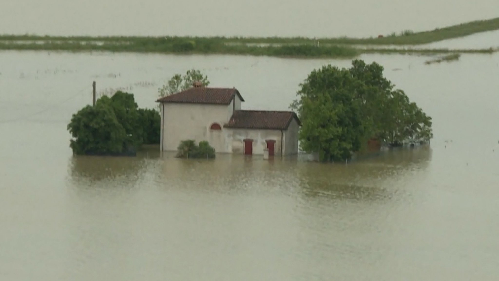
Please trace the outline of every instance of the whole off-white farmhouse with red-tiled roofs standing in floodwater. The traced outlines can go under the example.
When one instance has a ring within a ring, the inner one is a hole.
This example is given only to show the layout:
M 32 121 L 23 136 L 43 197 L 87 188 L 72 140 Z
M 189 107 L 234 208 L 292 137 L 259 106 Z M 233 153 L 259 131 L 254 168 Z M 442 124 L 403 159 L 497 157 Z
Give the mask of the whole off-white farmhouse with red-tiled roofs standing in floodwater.
M 181 140 L 207 140 L 217 152 L 263 154 L 298 153 L 301 125 L 293 111 L 242 110 L 236 88 L 194 87 L 161 97 L 163 151 L 177 150 Z

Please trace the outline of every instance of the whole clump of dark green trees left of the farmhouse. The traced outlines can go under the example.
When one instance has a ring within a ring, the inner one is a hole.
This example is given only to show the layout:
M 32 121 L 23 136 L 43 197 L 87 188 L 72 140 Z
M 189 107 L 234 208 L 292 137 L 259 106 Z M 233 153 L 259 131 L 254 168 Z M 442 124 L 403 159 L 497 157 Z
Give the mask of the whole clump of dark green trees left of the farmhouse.
M 127 153 L 160 142 L 160 115 L 138 108 L 133 94 L 118 91 L 73 114 L 67 129 L 74 154 Z

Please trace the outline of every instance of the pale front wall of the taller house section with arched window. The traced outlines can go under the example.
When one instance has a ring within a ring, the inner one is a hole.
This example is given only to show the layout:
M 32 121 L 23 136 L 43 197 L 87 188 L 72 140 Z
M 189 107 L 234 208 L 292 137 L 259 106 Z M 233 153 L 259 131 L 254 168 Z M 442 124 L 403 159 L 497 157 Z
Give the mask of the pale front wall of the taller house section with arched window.
M 161 105 L 163 108 L 163 104 Z M 177 150 L 181 140 L 207 140 L 217 152 L 231 152 L 232 141 L 224 128 L 232 116 L 233 104 L 189 104 L 164 103 L 162 115 L 162 149 Z M 211 130 L 213 123 L 219 123 L 222 130 Z

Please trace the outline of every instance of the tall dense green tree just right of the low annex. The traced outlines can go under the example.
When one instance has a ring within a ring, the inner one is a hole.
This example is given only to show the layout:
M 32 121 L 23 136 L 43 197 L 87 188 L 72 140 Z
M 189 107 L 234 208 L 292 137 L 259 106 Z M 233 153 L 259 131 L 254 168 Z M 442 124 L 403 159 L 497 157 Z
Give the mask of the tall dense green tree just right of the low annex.
M 364 128 L 354 96 L 356 84 L 347 69 L 331 65 L 313 70 L 300 84 L 299 99 L 291 107 L 302 122 L 299 139 L 303 150 L 318 152 L 322 161 L 331 161 L 350 158 L 360 148 Z

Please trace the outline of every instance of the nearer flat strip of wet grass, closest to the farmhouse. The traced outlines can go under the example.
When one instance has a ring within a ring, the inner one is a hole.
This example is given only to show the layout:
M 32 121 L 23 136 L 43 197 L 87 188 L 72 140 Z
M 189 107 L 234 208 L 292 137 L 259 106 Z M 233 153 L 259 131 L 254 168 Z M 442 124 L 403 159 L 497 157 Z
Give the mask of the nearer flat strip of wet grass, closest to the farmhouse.
M 99 44 L 82 43 L 78 41 L 46 41 L 42 43 L 16 43 L 0 42 L 0 50 L 53 50 L 53 51 L 109 51 L 109 52 L 139 52 L 139 53 L 165 53 L 165 54 L 232 54 L 232 55 L 253 55 L 253 56 L 275 56 L 275 57 L 295 57 L 295 58 L 352 58 L 362 53 L 381 54 L 455 54 L 455 53 L 494 53 L 498 48 L 484 49 L 424 49 L 424 48 L 389 48 L 370 46 L 360 48 L 349 45 L 247 45 L 247 44 L 218 44 L 210 41 L 192 41 L 189 44 L 175 41 L 150 41 L 143 43 L 117 43 L 101 42 Z

